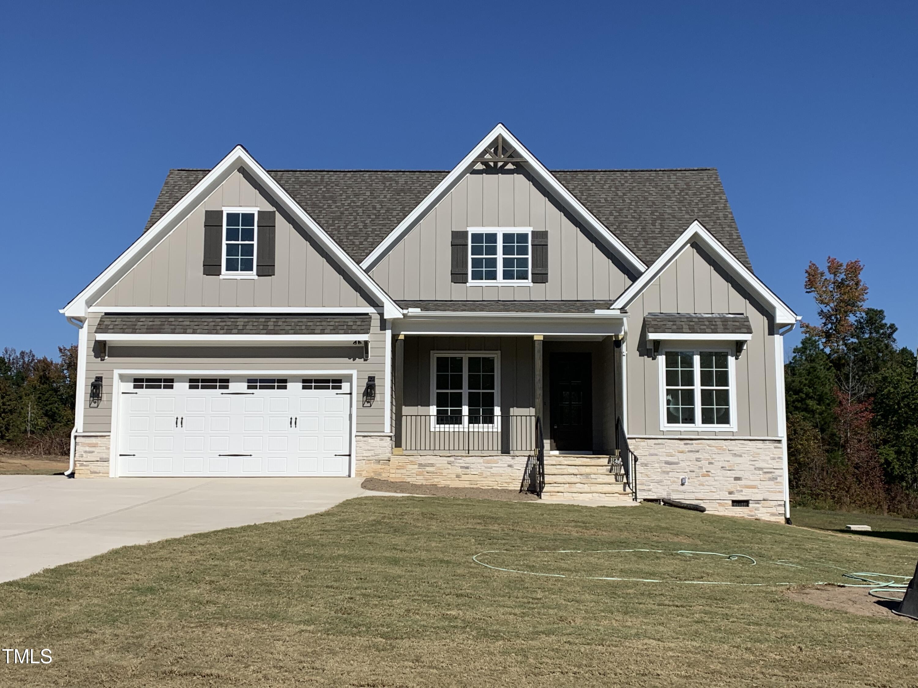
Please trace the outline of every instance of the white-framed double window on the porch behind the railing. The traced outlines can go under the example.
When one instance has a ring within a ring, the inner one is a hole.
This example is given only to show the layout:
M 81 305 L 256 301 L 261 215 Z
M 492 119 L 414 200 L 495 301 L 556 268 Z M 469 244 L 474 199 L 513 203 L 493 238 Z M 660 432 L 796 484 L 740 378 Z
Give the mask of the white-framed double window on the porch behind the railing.
M 434 353 L 433 427 L 495 427 L 500 416 L 497 353 Z

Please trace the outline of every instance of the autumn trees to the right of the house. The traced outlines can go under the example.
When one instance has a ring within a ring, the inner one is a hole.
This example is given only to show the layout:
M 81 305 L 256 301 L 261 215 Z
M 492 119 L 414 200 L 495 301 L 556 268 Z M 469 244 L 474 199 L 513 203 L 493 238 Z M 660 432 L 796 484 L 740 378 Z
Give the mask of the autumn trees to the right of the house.
M 918 361 L 868 308 L 860 261 L 810 263 L 819 322 L 785 365 L 790 490 L 798 505 L 918 515 Z

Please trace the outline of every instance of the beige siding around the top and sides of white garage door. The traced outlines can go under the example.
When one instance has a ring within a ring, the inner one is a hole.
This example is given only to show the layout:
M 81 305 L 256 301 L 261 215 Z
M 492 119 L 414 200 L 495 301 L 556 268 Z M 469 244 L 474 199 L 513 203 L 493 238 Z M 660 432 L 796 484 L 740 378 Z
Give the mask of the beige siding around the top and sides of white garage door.
M 373 405 L 365 406 L 362 393 L 368 375 L 376 376 L 376 389 L 386 389 L 386 330 L 380 329 L 379 316 L 370 326 L 370 359 L 364 361 L 360 347 L 174 347 L 108 346 L 102 361 L 95 346 L 95 327 L 100 314 L 91 314 L 87 331 L 86 377 L 83 389 L 84 432 L 110 432 L 113 383 L 116 370 L 347 370 L 357 371 L 357 432 L 383 432 L 385 399 L 377 394 Z M 356 360 L 354 360 L 356 359 Z M 102 401 L 89 405 L 89 387 L 96 375 L 102 376 Z

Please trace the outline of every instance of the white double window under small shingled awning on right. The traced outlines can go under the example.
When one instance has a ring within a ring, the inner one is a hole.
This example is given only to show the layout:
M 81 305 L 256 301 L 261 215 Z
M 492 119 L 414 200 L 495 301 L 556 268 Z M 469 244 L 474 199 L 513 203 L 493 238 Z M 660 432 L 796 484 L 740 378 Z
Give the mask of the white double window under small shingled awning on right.
M 733 352 L 665 350 L 659 356 L 661 425 L 674 429 L 736 429 Z

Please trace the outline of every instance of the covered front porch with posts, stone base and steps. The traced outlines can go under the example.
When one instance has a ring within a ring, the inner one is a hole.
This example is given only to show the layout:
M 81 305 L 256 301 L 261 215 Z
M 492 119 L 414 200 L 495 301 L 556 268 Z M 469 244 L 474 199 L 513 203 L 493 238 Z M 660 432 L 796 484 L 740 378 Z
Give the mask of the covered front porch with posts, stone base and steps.
M 624 316 L 592 311 L 419 311 L 398 321 L 398 479 L 621 494 Z

